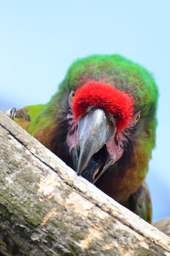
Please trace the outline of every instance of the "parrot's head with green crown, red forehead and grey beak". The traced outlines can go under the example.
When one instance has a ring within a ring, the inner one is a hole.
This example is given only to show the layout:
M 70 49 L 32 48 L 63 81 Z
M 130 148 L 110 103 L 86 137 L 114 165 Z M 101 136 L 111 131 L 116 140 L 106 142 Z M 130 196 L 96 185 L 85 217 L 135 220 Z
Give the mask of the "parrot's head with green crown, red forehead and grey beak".
M 64 108 L 55 111 L 53 152 L 78 175 L 96 183 L 108 170 L 123 177 L 132 166 L 141 178 L 146 175 L 155 145 L 157 87 L 143 67 L 119 55 L 77 60 L 50 104 Z

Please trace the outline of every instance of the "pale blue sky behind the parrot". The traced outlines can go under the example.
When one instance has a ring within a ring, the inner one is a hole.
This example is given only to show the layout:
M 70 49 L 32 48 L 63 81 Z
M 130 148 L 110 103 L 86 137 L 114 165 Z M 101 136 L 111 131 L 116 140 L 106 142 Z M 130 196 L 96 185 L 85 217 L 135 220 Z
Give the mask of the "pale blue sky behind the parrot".
M 0 110 L 46 103 L 77 59 L 121 54 L 159 86 L 157 147 L 147 180 L 153 220 L 170 216 L 170 1 L 1 0 Z

